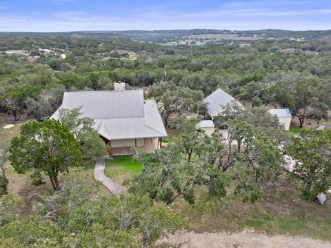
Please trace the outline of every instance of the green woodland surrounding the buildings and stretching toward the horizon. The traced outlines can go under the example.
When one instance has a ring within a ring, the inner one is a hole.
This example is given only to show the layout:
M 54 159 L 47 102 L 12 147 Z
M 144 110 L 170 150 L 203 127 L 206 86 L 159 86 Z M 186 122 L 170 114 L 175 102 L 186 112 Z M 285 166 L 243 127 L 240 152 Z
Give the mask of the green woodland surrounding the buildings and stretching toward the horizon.
M 205 34 L 183 32 L 150 39 L 135 32 L 0 34 L 0 122 L 21 125 L 13 138 L 5 139 L 1 129 L 0 247 L 148 247 L 164 233 L 208 229 L 203 218 L 223 221 L 230 230 L 226 223 L 259 228 L 263 219 L 281 232 L 284 216 L 299 221 L 312 206 L 319 208 L 317 219 L 305 219 L 304 225 L 313 222 L 306 229 L 330 240 L 325 236 L 331 230 L 330 203 L 316 201 L 331 187 L 331 131 L 316 130 L 328 124 L 331 108 L 329 32 L 247 31 L 239 37 L 261 39 L 199 36 L 181 44 L 185 35 Z M 59 121 L 47 120 L 63 92 L 112 90 L 117 81 L 143 88 L 146 98 L 158 102 L 169 133 L 175 133 L 152 154 L 134 150 L 139 169 L 123 180 L 128 193 L 121 198 L 92 179 L 94 160 L 107 153 L 93 120 L 81 117 L 79 108 L 61 111 Z M 214 119 L 216 131 L 206 135 L 197 128 L 207 110 L 201 99 L 217 88 L 244 107 L 226 106 Z M 267 112 L 270 106 L 289 108 L 302 131 L 283 131 Z M 290 169 L 285 158 L 292 159 Z M 12 169 L 9 177 L 6 167 Z M 14 173 L 30 174 L 32 184 L 45 192 L 22 200 L 8 187 Z M 302 213 L 275 210 L 289 206 L 287 197 L 303 205 Z M 251 213 L 259 201 L 273 206 L 259 206 L 258 223 L 237 220 L 227 203 L 248 206 Z M 23 214 L 24 204 L 30 210 Z M 196 215 L 202 216 L 198 224 Z M 211 227 L 208 231 L 219 231 Z

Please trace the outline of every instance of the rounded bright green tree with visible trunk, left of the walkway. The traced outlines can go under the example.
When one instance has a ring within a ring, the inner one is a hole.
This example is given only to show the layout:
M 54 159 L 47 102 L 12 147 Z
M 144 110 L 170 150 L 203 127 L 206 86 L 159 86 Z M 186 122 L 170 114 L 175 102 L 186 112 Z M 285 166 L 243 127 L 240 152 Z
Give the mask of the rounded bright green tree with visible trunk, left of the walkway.
M 59 173 L 82 162 L 77 140 L 58 120 L 23 124 L 20 135 L 12 139 L 9 159 L 18 173 L 33 169 L 34 173 L 48 175 L 54 190 L 60 189 Z

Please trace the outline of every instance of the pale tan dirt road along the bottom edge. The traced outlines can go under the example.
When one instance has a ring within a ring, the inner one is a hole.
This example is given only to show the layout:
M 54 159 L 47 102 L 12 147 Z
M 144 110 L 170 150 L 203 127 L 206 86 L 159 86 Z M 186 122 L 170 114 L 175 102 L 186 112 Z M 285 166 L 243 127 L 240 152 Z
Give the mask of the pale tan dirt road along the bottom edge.
M 241 233 L 194 233 L 179 231 L 157 243 L 158 247 L 180 248 L 319 248 L 331 247 L 330 242 L 292 236 L 268 236 L 246 230 Z

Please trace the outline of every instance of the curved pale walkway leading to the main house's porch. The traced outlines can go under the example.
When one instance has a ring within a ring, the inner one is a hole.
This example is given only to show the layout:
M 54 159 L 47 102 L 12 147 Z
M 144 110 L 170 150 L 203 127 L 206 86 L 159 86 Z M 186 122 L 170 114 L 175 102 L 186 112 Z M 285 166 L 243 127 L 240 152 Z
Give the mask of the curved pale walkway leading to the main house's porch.
M 104 171 L 106 165 L 106 158 L 100 158 L 95 162 L 94 167 L 94 179 L 102 182 L 102 184 L 112 193 L 113 195 L 121 195 L 124 189 L 119 186 L 117 182 L 114 182 L 110 178 L 107 178 Z

